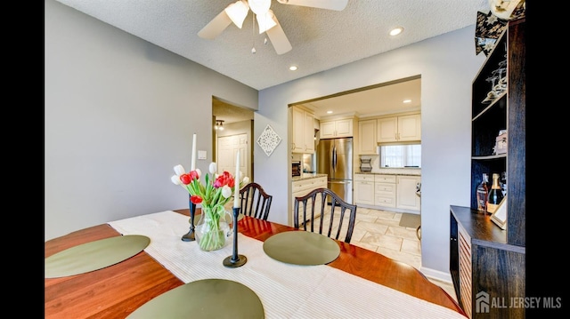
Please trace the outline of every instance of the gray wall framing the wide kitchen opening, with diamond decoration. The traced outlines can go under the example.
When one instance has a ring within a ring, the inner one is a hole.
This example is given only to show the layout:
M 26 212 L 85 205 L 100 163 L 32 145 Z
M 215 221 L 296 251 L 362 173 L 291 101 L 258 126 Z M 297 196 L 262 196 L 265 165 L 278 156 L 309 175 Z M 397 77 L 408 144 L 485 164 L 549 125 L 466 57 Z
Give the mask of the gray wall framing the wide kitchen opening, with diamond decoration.
M 474 17 L 475 17 L 474 12 Z M 255 136 L 271 124 L 288 136 L 288 105 L 381 84 L 408 76 L 421 76 L 422 117 L 422 272 L 451 280 L 449 276 L 449 205 L 469 205 L 471 81 L 485 60 L 476 56 L 475 26 L 463 28 L 418 44 L 359 60 L 314 76 L 265 89 L 259 93 Z M 288 144 L 281 144 L 271 157 L 256 156 L 256 171 L 289 167 Z M 257 174 L 269 189 L 288 185 L 289 171 Z M 273 199 L 271 219 L 287 222 L 289 197 Z M 273 210 L 276 207 L 276 210 Z

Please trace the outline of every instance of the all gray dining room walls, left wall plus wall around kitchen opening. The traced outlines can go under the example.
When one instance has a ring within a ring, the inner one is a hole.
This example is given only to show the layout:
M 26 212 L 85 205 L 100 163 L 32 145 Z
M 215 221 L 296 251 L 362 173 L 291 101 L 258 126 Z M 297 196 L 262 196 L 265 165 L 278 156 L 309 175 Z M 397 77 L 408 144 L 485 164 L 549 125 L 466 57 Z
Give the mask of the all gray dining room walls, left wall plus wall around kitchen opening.
M 475 22 L 476 12 L 473 12 Z M 281 136 L 254 145 L 270 220 L 290 211 L 288 105 L 421 76 L 422 272 L 449 280 L 449 205 L 469 204 L 475 26 L 257 92 L 53 0 L 45 0 L 45 240 L 114 219 L 188 206 L 172 167 L 190 165 L 191 134 L 211 154 L 212 96 L 258 109 Z

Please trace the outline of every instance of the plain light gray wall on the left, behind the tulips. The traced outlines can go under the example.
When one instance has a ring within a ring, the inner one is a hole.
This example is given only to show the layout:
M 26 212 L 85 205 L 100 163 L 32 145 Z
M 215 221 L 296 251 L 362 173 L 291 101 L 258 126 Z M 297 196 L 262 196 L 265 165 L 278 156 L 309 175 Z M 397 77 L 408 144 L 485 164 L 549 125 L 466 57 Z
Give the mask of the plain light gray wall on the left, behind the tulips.
M 212 96 L 257 108 L 256 90 L 45 0 L 45 240 L 187 208 L 170 176 L 193 132 L 208 171 Z

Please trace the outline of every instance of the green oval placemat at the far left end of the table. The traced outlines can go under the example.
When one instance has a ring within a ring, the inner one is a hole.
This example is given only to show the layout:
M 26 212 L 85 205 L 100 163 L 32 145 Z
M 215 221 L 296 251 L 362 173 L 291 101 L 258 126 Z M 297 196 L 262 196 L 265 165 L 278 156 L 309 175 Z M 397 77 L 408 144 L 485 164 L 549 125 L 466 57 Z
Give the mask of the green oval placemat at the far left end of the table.
M 141 252 L 151 243 L 144 235 L 121 235 L 82 243 L 45 259 L 45 278 L 88 273 L 115 265 Z

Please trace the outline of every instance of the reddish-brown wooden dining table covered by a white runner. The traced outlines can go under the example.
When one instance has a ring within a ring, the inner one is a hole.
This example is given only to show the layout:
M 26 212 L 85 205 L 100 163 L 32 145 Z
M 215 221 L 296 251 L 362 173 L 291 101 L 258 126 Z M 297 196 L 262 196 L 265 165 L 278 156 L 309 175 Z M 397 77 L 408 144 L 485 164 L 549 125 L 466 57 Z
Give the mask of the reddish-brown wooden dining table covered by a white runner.
M 200 209 L 198 208 L 196 214 L 199 213 Z M 152 223 L 156 224 L 156 221 L 152 219 L 155 215 L 161 218 L 182 216 L 182 220 L 185 222 L 182 225 L 177 225 L 176 229 L 188 231 L 189 209 L 163 211 L 148 216 L 142 215 L 141 218 L 152 220 Z M 176 220 L 176 223 L 180 224 L 178 219 Z M 125 229 L 128 227 L 122 226 L 128 226 L 128 222 L 130 219 L 86 227 L 45 241 L 45 259 L 85 243 L 126 235 Z M 159 225 L 155 231 L 167 232 L 165 229 L 166 227 Z M 134 228 L 131 233 L 138 231 L 137 228 Z M 153 235 L 149 235 L 151 237 L 150 246 L 114 265 L 77 275 L 45 277 L 45 318 L 126 318 L 152 299 L 195 280 L 196 277 L 193 277 L 191 272 L 195 271 L 196 268 L 193 268 L 192 271 L 185 270 L 184 264 L 191 263 L 202 263 L 198 265 L 197 269 L 221 268 L 216 270 L 219 273 L 213 273 L 214 275 L 210 276 L 222 274 L 226 278 L 254 287 L 253 290 L 260 295 L 264 304 L 265 317 L 268 318 L 315 317 L 314 314 L 319 314 L 317 311 L 320 310 L 313 308 L 322 306 L 330 307 L 329 314 L 322 315 L 322 317 L 347 317 L 346 314 L 341 314 L 340 310 L 342 309 L 351 311 L 354 317 L 391 318 L 410 317 L 410 315 L 415 317 L 437 315 L 438 317 L 464 318 L 467 316 L 455 299 L 452 299 L 444 289 L 435 283 L 431 283 L 415 267 L 390 259 L 376 251 L 334 239 L 340 250 L 338 258 L 325 265 L 316 267 L 281 265 L 282 263 L 279 261 L 271 259 L 274 264 L 270 265 L 276 269 L 285 270 L 279 270 L 279 274 L 274 275 L 283 275 L 282 281 L 277 278 L 275 281 L 271 279 L 270 283 L 269 279 L 264 279 L 263 275 L 256 275 L 257 271 L 261 272 L 255 269 L 256 259 L 261 259 L 264 255 L 260 247 L 273 235 L 304 230 L 269 220 L 241 216 L 237 223 L 237 231 L 240 235 L 238 237 L 240 238 L 239 244 L 233 248 L 232 244 L 229 244 L 226 251 L 229 251 L 230 254 L 232 249 L 234 251 L 240 250 L 240 253 L 246 251 L 248 261 L 240 267 L 245 270 L 219 267 L 222 265 L 222 260 L 219 260 L 219 265 L 204 264 L 203 259 L 200 259 L 198 255 L 202 252 L 203 254 L 212 254 L 212 251 L 193 252 L 195 258 L 185 256 L 186 259 L 183 259 L 182 265 L 174 267 L 171 264 L 174 265 L 176 261 L 170 259 L 178 259 L 180 256 L 177 257 L 177 254 L 184 254 L 186 247 L 195 247 L 191 245 L 196 243 L 183 242 L 180 239 L 184 235 L 183 232 L 175 234 L 175 232 L 169 231 L 168 234 L 161 235 L 170 238 L 168 240 L 172 241 L 172 246 L 183 248 L 178 248 L 178 251 L 162 248 L 164 253 L 161 253 L 160 249 L 150 249 L 151 245 L 159 240 Z M 238 243 L 237 240 L 234 243 Z M 304 287 L 313 284 L 302 283 L 303 281 L 311 281 L 311 278 L 305 279 L 303 277 L 302 274 L 305 271 L 314 271 L 317 275 L 326 271 L 329 275 L 320 277 L 322 279 L 318 285 L 321 285 L 321 288 L 310 288 L 311 291 L 303 295 L 305 293 Z M 297 277 L 297 279 L 287 279 L 285 278 L 287 275 L 293 278 Z M 204 276 L 208 277 L 208 273 Z M 271 289 L 267 287 L 267 292 L 265 292 L 265 284 L 271 286 Z M 299 309 L 292 310 L 290 309 L 291 305 L 285 300 L 290 300 L 291 296 L 296 296 L 297 293 L 303 300 L 297 300 Z M 272 297 L 273 295 L 277 297 Z M 302 296 L 310 296 L 310 298 Z M 188 298 L 191 299 L 192 296 Z M 343 302 L 346 302 L 347 305 L 343 306 Z M 362 302 L 362 307 L 348 305 L 355 302 Z M 277 304 L 280 306 L 277 307 Z M 334 306 L 330 306 L 333 304 Z M 337 307 L 340 310 L 337 310 Z M 301 310 L 303 308 L 305 310 Z M 361 308 L 367 308 L 366 312 L 362 315 L 354 313 L 360 311 Z M 283 313 L 280 312 L 281 309 L 284 311 Z M 188 317 L 192 317 L 191 314 Z

